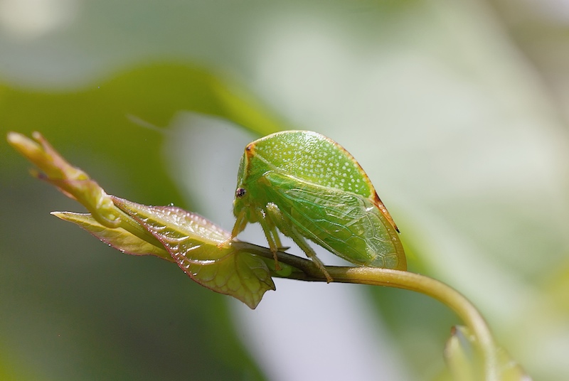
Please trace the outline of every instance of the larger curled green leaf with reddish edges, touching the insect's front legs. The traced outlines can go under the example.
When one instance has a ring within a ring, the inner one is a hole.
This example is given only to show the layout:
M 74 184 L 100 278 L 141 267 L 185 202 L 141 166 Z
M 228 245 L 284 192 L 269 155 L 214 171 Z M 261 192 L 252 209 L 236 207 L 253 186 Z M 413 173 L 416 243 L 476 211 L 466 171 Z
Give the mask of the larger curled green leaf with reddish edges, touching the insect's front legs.
M 174 206 L 147 206 L 113 197 L 115 205 L 137 220 L 168 250 L 191 279 L 255 308 L 274 290 L 261 257 L 235 248 L 230 233 L 200 215 Z

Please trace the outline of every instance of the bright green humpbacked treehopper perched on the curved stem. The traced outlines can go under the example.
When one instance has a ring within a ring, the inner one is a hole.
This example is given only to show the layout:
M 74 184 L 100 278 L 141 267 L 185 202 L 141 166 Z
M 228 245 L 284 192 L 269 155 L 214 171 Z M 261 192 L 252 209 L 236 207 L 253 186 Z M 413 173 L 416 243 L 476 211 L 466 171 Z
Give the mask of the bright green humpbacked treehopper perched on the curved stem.
M 277 230 L 292 238 L 332 281 L 306 239 L 353 264 L 407 269 L 398 228 L 358 162 L 309 131 L 277 132 L 245 147 L 231 237 L 259 222 L 279 269 Z

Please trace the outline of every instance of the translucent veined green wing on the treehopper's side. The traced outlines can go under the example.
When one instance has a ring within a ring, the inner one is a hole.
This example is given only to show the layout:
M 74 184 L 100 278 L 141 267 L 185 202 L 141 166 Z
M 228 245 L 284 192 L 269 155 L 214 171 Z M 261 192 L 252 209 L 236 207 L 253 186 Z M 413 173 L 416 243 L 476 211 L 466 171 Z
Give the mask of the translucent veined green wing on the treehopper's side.
M 369 198 L 275 171 L 264 178 L 272 202 L 304 237 L 355 264 L 407 268 L 397 232 Z

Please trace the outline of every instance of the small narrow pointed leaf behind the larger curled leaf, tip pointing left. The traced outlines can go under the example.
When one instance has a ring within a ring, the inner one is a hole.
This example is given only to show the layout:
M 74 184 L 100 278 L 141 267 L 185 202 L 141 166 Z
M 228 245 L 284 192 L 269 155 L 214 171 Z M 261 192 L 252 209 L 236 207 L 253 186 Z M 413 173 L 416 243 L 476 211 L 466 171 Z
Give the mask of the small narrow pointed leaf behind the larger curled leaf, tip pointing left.
M 174 262 L 169 252 L 164 247 L 157 247 L 150 242 L 142 240 L 136 235 L 124 230 L 122 227 L 105 227 L 101 225 L 90 213 L 72 213 L 72 212 L 52 212 L 62 220 L 73 222 L 79 227 L 87 230 L 102 242 L 105 242 L 115 249 L 131 255 L 156 255 L 161 259 Z

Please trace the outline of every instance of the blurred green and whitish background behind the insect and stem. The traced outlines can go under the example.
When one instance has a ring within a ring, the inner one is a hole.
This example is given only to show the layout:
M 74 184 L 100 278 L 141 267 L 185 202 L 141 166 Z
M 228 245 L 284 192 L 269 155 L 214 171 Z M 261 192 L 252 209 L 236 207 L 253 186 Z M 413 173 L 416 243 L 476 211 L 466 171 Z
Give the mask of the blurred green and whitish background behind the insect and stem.
M 410 269 L 471 299 L 536 380 L 569 379 L 568 110 L 562 0 L 0 0 L 3 136 L 38 130 L 107 192 L 230 228 L 248 141 L 326 134 Z M 82 208 L 29 167 L 0 141 L 1 380 L 442 375 L 459 321 L 437 302 L 277 281 L 250 311 L 53 218 Z

